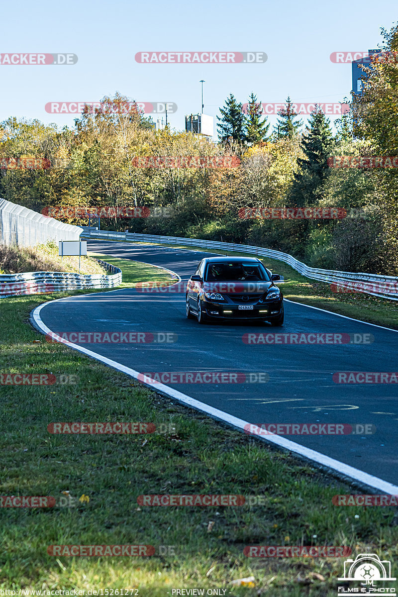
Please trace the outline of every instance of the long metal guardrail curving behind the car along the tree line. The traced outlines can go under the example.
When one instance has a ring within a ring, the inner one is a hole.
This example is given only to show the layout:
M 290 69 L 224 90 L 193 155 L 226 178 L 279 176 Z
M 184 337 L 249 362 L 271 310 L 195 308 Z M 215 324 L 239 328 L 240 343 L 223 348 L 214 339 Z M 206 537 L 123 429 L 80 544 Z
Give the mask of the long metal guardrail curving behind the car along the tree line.
M 237 251 L 240 253 L 249 253 L 260 257 L 270 257 L 287 263 L 297 272 L 306 278 L 327 282 L 334 286 L 337 293 L 345 291 L 362 292 L 372 296 L 398 300 L 398 277 L 384 276 L 373 273 L 355 273 L 340 272 L 337 270 L 319 269 L 309 267 L 302 261 L 298 261 L 288 253 L 266 249 L 263 247 L 254 247 L 252 245 L 239 245 L 232 242 L 206 241 L 197 238 L 184 238 L 182 236 L 158 236 L 150 234 L 137 234 L 129 232 L 107 232 L 103 230 L 94 230 L 88 226 L 82 226 L 83 232 L 81 238 L 109 239 L 115 241 L 132 242 L 153 242 L 164 243 L 168 245 L 189 245 L 192 247 L 202 247 L 221 251 Z

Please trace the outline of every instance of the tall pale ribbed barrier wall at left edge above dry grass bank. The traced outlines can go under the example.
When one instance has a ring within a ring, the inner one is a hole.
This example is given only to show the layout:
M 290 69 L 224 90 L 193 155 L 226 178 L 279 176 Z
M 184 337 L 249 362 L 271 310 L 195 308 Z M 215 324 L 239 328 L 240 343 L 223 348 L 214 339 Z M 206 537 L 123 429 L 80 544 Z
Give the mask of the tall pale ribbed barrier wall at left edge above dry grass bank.
M 0 199 L 0 242 L 33 247 L 50 240 L 78 241 L 82 228 L 64 224 L 6 199 Z

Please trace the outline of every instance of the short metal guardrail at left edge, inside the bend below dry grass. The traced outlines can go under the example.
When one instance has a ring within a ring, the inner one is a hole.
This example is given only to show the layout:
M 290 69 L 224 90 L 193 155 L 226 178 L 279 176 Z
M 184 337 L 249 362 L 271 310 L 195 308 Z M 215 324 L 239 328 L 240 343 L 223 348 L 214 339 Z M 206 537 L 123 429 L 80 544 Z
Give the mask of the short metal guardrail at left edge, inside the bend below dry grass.
M 56 293 L 66 290 L 87 288 L 115 288 L 122 283 L 122 270 L 106 261 L 97 259 L 106 266 L 111 275 L 69 272 L 24 272 L 0 275 L 0 298 L 26 294 Z

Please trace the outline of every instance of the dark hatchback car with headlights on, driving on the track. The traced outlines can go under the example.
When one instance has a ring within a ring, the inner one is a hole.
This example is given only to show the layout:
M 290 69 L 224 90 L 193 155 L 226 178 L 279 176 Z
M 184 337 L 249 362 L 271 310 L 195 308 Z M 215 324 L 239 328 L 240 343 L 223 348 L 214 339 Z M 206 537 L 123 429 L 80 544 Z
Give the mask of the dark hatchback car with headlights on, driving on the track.
M 206 257 L 187 283 L 187 318 L 200 324 L 245 319 L 283 324 L 283 294 L 257 257 Z

